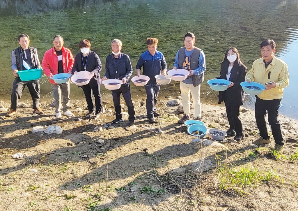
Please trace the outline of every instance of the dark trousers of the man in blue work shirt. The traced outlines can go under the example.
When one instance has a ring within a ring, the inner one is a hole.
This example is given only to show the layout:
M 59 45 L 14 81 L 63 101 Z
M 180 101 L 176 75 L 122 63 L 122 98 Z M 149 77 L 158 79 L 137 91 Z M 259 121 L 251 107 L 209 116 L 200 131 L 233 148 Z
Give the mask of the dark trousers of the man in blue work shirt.
M 152 85 L 145 85 L 145 90 L 147 94 L 146 99 L 146 109 L 147 109 L 147 116 L 148 118 L 154 117 L 154 112 L 156 111 L 156 103 L 157 103 L 157 97 L 159 93 L 160 85 L 158 86 L 152 86 Z

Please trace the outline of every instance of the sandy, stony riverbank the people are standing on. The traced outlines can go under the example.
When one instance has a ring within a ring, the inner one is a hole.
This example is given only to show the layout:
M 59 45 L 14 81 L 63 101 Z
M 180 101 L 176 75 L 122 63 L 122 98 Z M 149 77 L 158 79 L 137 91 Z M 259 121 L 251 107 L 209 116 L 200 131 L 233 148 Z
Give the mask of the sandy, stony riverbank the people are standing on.
M 159 98 L 162 116 L 148 124 L 145 100 L 135 100 L 135 127 L 127 127 L 126 115 L 122 123 L 107 124 L 114 119 L 111 101 L 103 105 L 112 111 L 96 120 L 83 117 L 84 100 L 71 102 L 75 117 L 61 119 L 53 116 L 50 101 L 41 102 L 44 115 L 20 108 L 7 118 L 2 109 L 0 210 L 298 210 L 297 120 L 280 116 L 285 157 L 272 153 L 274 143 L 250 146 L 258 131 L 254 112 L 246 109 L 241 112 L 243 141 L 227 138 L 221 142 L 224 145 L 204 147 L 189 144 L 195 137 L 177 124 L 173 115 L 180 113 L 176 106 L 167 107 L 167 101 Z M 202 121 L 207 127 L 227 130 L 224 107 L 210 104 L 202 105 Z M 10 103 L 1 105 L 8 108 Z M 35 126 L 49 125 L 62 127 L 63 133 L 31 132 Z M 15 153 L 24 158 L 13 159 Z M 218 174 L 222 162 L 229 169 L 273 173 L 266 174 L 266 181 L 223 188 Z

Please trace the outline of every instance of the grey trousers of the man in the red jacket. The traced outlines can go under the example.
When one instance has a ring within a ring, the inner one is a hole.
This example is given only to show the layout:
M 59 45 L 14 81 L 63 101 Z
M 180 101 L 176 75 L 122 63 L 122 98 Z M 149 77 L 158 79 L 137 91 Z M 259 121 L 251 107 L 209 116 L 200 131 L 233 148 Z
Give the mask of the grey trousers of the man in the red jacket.
M 51 84 L 52 94 L 54 97 L 55 112 L 61 112 L 61 98 L 63 101 L 62 111 L 66 112 L 69 109 L 69 81 L 64 84 Z M 61 95 L 62 92 L 62 95 Z

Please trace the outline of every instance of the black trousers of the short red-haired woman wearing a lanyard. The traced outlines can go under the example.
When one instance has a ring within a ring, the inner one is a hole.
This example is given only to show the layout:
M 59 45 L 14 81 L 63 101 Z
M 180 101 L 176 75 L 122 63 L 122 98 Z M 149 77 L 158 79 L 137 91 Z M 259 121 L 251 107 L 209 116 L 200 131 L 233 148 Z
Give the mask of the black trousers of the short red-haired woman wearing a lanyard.
M 89 85 L 87 86 L 82 86 L 85 97 L 86 97 L 86 102 L 88 105 L 88 110 L 89 111 L 94 111 L 94 104 L 93 104 L 93 97 L 91 90 L 93 92 L 94 98 L 95 98 L 95 113 L 100 113 L 103 110 L 102 107 L 102 99 L 101 99 L 101 94 L 100 94 L 100 87 L 90 87 Z

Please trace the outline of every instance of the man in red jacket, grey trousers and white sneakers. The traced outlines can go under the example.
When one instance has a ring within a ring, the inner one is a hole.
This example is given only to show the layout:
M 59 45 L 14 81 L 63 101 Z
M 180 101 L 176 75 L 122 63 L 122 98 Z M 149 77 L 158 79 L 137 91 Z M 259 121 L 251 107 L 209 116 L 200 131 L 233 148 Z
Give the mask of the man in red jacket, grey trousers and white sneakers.
M 44 73 L 48 76 L 51 83 L 52 94 L 54 97 L 56 117 L 61 118 L 61 93 L 63 99 L 63 115 L 71 116 L 73 113 L 69 111 L 69 80 L 64 84 L 56 84 L 54 82 L 53 75 L 58 73 L 72 74 L 72 66 L 74 64 L 74 58 L 69 49 L 63 47 L 63 37 L 56 35 L 53 41 L 54 47 L 47 50 L 44 53 L 42 60 L 42 68 Z

